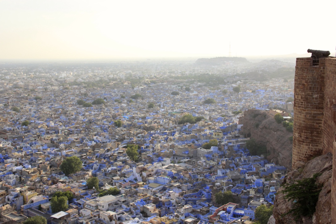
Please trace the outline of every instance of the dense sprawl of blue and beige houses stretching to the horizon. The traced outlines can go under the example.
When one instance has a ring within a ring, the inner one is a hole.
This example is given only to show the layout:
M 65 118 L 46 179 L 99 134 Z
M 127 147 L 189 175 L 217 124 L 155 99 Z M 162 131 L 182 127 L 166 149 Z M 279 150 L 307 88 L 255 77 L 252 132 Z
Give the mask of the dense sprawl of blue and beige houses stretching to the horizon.
M 287 172 L 248 109 L 293 116 L 294 63 L 0 64 L 1 221 L 253 223 Z

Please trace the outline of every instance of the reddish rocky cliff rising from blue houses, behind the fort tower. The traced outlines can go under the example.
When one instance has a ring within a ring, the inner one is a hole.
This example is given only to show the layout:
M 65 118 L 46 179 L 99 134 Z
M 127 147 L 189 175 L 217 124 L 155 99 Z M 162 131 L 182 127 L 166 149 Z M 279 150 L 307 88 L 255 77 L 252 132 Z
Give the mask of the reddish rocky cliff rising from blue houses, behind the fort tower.
M 291 169 L 292 141 L 289 138 L 293 133 L 288 132 L 282 124 L 278 124 L 274 116 L 266 111 L 249 109 L 244 112 L 244 117 L 239 119 L 239 124 L 243 124 L 241 134 L 266 145 L 268 161 Z

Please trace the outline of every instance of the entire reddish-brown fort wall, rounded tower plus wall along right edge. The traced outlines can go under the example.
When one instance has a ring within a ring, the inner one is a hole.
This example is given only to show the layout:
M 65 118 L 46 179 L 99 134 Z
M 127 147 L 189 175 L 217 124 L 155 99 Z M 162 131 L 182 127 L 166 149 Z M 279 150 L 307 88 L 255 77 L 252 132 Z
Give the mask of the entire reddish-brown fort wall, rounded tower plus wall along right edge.
M 332 223 L 336 223 L 336 58 L 297 58 L 294 82 L 292 167 L 333 154 Z

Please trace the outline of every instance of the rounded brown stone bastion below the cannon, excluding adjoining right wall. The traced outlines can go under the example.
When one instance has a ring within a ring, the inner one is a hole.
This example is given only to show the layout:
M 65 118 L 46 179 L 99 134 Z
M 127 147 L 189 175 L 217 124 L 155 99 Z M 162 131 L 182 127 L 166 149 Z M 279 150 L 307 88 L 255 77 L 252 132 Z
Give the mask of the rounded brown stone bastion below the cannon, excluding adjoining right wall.
M 322 154 L 324 62 L 312 66 L 312 58 L 297 58 L 294 80 L 293 160 L 307 162 Z

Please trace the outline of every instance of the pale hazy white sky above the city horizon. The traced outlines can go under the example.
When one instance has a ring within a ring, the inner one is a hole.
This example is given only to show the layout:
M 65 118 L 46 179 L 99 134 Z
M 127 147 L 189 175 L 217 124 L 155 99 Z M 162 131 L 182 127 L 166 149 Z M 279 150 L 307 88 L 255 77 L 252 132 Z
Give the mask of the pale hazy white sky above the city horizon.
M 0 0 L 0 59 L 335 52 L 336 1 Z M 333 55 L 334 56 L 334 55 Z

